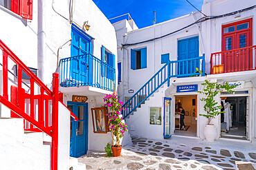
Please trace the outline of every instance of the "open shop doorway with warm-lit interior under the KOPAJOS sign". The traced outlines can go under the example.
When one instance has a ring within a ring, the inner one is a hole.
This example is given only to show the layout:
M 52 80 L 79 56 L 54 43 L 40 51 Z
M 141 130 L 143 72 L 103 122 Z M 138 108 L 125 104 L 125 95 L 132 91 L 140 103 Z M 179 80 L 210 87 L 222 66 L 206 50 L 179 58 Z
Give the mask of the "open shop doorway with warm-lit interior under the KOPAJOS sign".
M 181 109 L 185 111 L 183 122 L 185 128 L 181 124 Z M 186 95 L 186 96 L 175 96 L 175 135 L 179 136 L 192 136 L 196 137 L 196 125 L 197 125 L 197 96 Z

